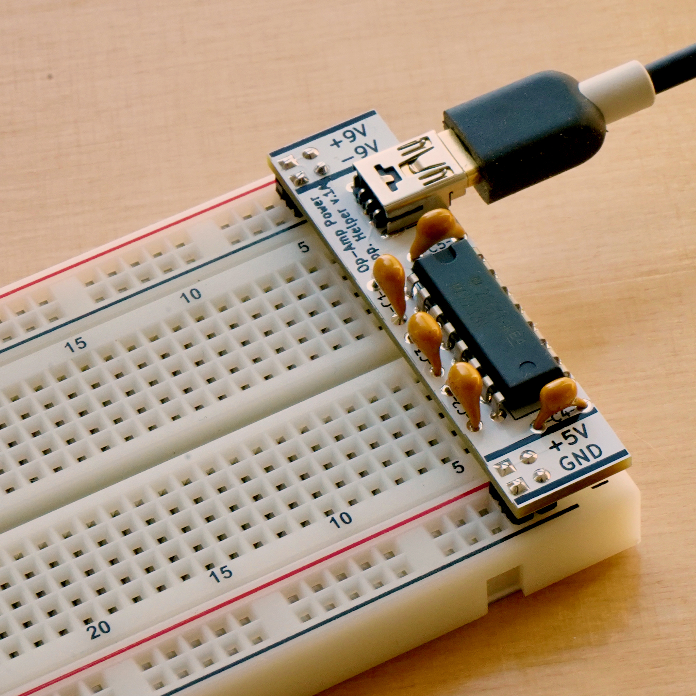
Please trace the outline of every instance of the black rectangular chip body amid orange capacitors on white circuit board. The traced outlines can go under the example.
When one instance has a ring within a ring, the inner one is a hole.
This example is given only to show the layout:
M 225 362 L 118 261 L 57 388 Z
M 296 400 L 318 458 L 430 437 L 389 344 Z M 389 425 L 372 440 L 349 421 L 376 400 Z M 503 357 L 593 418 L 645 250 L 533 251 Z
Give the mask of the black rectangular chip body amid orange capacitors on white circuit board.
M 503 394 L 508 409 L 535 403 L 544 384 L 563 377 L 466 239 L 422 256 L 413 271 Z

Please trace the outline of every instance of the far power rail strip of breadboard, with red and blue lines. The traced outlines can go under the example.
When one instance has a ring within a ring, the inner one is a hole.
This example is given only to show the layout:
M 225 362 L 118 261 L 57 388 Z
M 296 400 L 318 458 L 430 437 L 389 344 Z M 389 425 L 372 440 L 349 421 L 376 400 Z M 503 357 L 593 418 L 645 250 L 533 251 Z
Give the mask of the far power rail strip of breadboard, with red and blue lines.
M 273 186 L 269 177 L 3 287 L 2 361 L 254 258 L 263 240 L 302 224 Z

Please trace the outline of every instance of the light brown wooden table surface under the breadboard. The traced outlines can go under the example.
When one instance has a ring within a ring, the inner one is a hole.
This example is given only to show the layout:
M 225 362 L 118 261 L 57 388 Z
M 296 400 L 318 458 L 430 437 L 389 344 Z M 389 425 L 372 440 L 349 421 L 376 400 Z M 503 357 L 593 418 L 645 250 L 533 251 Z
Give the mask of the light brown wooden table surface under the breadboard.
M 402 139 L 537 70 L 696 41 L 693 0 L 4 0 L 0 280 L 266 175 L 376 108 Z M 696 81 L 587 164 L 454 212 L 633 454 L 637 548 L 325 696 L 696 693 Z

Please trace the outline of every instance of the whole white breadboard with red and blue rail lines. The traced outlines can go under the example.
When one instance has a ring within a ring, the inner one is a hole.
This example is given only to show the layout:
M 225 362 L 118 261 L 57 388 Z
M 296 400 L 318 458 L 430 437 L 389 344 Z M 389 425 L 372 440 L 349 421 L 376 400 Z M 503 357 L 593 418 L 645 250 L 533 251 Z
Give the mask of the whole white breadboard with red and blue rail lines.
M 638 541 L 509 523 L 271 183 L 3 293 L 0 693 L 310 695 Z

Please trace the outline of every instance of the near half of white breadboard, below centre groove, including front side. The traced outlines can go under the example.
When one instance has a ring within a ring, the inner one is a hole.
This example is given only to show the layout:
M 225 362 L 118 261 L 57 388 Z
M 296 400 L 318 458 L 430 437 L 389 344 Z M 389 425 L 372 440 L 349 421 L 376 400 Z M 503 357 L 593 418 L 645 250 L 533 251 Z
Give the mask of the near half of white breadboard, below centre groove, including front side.
M 637 541 L 626 475 L 512 525 L 431 404 L 399 360 L 6 532 L 4 693 L 311 694 Z

